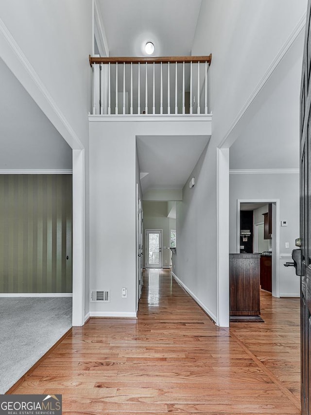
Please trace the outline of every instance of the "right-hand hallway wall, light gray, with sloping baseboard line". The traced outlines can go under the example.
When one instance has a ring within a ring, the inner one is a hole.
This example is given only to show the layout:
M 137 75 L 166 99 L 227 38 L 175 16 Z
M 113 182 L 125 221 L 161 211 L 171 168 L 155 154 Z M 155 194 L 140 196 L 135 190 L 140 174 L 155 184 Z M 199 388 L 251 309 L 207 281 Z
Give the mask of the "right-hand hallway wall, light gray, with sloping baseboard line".
M 190 189 L 187 180 L 183 200 L 176 203 L 173 273 L 216 321 L 216 182 L 210 174 L 216 170 L 216 150 L 213 157 L 209 145 L 190 174 L 195 186 Z

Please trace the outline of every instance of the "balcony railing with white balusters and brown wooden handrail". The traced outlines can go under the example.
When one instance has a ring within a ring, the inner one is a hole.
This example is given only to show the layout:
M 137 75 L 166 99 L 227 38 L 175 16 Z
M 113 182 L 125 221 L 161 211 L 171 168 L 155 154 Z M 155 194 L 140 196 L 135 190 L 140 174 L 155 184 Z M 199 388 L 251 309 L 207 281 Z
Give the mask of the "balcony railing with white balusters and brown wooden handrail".
M 212 55 L 92 57 L 93 115 L 208 114 Z

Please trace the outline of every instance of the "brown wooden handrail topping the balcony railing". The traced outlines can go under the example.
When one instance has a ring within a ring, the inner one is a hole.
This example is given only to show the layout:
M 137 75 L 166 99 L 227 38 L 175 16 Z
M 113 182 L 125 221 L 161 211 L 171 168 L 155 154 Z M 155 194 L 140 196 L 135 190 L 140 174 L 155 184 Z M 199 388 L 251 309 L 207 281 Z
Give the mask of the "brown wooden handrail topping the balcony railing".
M 99 63 L 204 63 L 207 62 L 210 65 L 212 61 L 212 54 L 208 56 L 160 56 L 160 57 L 130 57 L 130 56 L 115 56 L 115 57 L 94 57 L 88 56 L 89 64 L 99 64 Z

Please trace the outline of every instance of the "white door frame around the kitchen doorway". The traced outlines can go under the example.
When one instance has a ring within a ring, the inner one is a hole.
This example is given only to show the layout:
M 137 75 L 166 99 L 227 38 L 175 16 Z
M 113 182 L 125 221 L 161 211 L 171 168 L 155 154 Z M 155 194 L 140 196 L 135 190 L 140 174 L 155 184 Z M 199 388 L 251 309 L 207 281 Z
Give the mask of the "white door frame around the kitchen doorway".
M 240 253 L 240 212 L 241 203 L 272 203 L 272 295 L 280 296 L 280 199 L 237 199 L 237 253 Z

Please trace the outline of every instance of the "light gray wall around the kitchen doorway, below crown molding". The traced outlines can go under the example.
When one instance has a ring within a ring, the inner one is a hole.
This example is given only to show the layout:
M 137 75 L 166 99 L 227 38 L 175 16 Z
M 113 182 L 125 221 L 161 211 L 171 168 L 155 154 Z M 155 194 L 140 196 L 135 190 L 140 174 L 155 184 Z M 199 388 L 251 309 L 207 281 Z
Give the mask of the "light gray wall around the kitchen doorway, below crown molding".
M 291 261 L 295 238 L 299 236 L 299 174 L 233 174 L 230 175 L 230 253 L 237 252 L 237 200 L 280 199 L 280 219 L 288 226 L 280 227 L 279 271 L 280 296 L 299 295 L 299 277 L 294 268 L 283 264 Z M 285 248 L 289 242 L 289 248 Z

